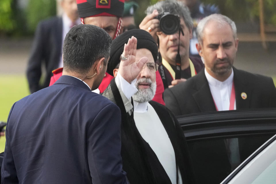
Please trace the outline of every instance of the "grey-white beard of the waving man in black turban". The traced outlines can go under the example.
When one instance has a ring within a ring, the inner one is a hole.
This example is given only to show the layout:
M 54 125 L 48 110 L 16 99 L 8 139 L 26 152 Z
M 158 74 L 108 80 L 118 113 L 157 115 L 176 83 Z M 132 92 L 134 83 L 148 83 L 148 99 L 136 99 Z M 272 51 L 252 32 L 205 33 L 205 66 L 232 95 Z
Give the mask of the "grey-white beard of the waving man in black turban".
M 139 83 L 150 83 L 150 88 L 139 89 Z M 150 78 L 141 78 L 136 81 L 135 86 L 138 91 L 132 96 L 133 100 L 143 103 L 153 99 L 156 92 L 156 82 L 153 83 Z

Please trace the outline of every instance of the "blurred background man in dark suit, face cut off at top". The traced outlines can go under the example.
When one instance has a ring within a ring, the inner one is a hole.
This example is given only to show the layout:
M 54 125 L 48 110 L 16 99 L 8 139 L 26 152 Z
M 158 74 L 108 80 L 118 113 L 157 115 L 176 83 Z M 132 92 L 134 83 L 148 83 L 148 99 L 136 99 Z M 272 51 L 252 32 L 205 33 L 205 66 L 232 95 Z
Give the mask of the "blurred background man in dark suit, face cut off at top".
M 27 66 L 31 93 L 49 86 L 52 70 L 63 67 L 62 43 L 66 33 L 81 23 L 76 0 L 60 0 L 62 17 L 54 17 L 38 24 Z M 43 68 L 46 72 L 43 73 Z

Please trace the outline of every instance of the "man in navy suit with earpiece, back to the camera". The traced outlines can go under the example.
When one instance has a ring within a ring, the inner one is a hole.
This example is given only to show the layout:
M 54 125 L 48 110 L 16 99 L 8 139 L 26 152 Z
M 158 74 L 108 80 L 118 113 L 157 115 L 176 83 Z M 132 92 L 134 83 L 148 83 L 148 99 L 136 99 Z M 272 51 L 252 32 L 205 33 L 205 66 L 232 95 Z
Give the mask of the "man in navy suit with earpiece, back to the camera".
M 11 108 L 2 183 L 127 183 L 120 109 L 91 92 L 104 77 L 110 46 L 97 26 L 68 32 L 63 75 Z

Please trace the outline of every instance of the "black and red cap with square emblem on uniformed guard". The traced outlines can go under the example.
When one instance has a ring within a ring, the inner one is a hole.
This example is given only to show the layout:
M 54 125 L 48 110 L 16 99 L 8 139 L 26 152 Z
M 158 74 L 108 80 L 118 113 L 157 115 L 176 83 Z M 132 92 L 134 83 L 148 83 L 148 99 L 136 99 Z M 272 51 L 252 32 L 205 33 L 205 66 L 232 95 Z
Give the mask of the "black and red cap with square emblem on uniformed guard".
M 122 17 L 124 0 L 76 0 L 81 18 L 91 16 Z

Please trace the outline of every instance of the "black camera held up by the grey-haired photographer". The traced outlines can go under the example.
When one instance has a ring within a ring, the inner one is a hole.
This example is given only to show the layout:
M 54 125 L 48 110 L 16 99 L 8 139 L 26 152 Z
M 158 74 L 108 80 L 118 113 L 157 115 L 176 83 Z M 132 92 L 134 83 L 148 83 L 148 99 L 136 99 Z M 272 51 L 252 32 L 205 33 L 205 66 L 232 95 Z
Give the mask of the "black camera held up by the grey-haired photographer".
M 180 18 L 178 15 L 170 14 L 170 12 L 164 12 L 156 16 L 159 20 L 159 27 L 165 34 L 175 34 L 180 28 Z

